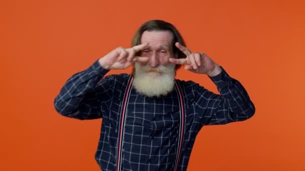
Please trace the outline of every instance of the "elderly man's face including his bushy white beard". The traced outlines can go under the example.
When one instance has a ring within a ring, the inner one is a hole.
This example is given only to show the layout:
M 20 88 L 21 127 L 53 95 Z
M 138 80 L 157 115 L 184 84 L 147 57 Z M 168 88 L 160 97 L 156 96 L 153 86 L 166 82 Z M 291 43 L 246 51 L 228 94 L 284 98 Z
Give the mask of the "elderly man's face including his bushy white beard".
M 175 64 L 173 57 L 173 33 L 171 31 L 144 31 L 141 43 L 148 43 L 140 56 L 149 57 L 146 63 L 134 64 L 135 89 L 146 96 L 166 95 L 174 88 Z

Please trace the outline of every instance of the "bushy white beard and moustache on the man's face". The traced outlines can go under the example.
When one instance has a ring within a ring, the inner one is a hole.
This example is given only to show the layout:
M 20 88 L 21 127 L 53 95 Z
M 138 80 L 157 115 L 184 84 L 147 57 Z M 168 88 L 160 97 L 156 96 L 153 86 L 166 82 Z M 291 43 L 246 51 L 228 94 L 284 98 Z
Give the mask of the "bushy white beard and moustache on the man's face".
M 136 62 L 133 75 L 135 90 L 148 97 L 167 95 L 174 88 L 175 66 L 176 64 L 170 63 L 168 66 L 149 67 Z M 149 70 L 156 72 L 147 72 Z

